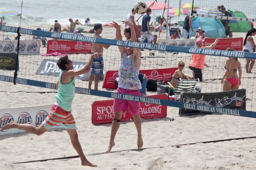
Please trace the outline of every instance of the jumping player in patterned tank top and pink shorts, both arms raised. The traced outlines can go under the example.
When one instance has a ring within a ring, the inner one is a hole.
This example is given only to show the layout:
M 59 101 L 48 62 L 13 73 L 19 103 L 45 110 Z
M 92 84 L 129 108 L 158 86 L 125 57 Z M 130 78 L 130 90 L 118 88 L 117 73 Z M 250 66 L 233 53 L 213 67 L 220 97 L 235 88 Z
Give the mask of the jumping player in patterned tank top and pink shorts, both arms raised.
M 122 21 L 126 25 L 130 26 L 131 29 L 131 41 L 136 42 L 136 35 L 134 26 L 129 21 Z M 111 23 L 116 28 L 116 39 L 122 40 L 122 34 L 120 25 L 114 22 Z M 121 65 L 119 67 L 119 85 L 117 88 L 117 93 L 121 94 L 130 94 L 141 96 L 141 82 L 138 78 L 139 70 L 141 66 L 141 51 L 137 48 L 126 48 L 118 46 L 118 49 L 121 53 Z M 141 118 L 140 118 L 140 102 L 114 99 L 113 111 L 115 112 L 112 126 L 111 126 L 111 135 L 109 146 L 106 153 L 109 153 L 112 147 L 115 146 L 115 135 L 120 127 L 120 121 L 122 118 L 123 111 L 127 111 L 128 107 L 130 109 L 130 115 L 134 118 L 134 124 L 137 129 L 138 139 L 137 147 L 141 149 L 143 146 L 142 134 L 141 134 Z

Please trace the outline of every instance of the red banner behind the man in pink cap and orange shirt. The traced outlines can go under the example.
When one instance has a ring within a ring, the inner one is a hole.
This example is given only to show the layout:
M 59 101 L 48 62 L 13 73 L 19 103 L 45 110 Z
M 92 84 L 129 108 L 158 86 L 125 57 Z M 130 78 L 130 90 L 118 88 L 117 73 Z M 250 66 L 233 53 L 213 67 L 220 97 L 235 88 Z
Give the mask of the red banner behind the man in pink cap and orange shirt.
M 214 43 L 216 38 L 205 38 L 204 47 Z M 243 50 L 243 38 L 220 38 L 219 42 L 213 47 L 215 50 L 226 50 L 232 48 L 234 50 Z

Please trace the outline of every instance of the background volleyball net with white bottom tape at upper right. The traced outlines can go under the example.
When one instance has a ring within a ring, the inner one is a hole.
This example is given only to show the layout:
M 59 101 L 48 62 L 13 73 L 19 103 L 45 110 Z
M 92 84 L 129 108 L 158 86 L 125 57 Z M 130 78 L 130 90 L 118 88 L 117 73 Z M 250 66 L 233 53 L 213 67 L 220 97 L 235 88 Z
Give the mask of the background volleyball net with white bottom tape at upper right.
M 192 6 L 197 11 L 196 14 L 192 14 Z M 224 15 L 224 12 L 221 10 L 222 7 L 219 10 L 218 6 L 224 6 L 226 11 L 230 13 L 230 16 Z M 256 2 L 247 3 L 237 0 L 179 0 L 179 9 L 181 9 L 179 10 L 179 15 L 253 22 L 256 16 L 255 7 Z

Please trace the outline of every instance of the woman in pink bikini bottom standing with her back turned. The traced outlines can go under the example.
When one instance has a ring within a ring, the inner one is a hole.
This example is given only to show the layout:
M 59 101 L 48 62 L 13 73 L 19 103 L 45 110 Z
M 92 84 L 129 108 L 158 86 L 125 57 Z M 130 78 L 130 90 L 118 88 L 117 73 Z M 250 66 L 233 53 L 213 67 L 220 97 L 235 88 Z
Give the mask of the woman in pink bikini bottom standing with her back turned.
M 227 48 L 226 50 L 234 51 L 232 48 Z M 225 69 L 227 69 L 226 73 L 221 80 L 221 84 L 223 84 L 222 91 L 239 89 L 241 85 L 242 67 L 238 59 L 229 57 L 226 60 Z M 237 76 L 237 69 L 239 71 L 239 78 Z

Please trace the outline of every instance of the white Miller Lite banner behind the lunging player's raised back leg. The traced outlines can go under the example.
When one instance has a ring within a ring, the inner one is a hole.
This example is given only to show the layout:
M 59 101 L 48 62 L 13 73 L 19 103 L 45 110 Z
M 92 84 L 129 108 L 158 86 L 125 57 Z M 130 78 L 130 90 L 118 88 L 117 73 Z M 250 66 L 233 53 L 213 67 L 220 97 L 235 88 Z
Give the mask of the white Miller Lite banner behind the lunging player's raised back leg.
M 2 131 L 4 125 L 12 120 L 20 124 L 32 124 L 39 127 L 48 116 L 52 105 L 15 107 L 0 109 L 0 135 L 25 132 L 20 129 L 8 129 Z M 62 124 L 57 124 L 52 128 L 64 128 Z

